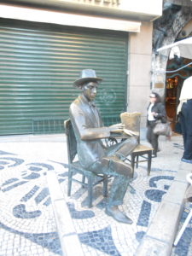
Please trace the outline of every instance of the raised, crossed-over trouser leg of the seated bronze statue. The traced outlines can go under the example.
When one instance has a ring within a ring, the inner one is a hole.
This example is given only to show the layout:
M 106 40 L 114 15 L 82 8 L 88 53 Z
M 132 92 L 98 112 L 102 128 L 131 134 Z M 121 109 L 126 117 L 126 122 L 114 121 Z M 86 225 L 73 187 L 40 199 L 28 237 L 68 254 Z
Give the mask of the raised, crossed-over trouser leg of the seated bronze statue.
M 125 139 L 125 141 L 121 143 L 117 143 L 107 149 L 107 155 L 116 155 L 121 159 L 125 159 L 125 157 L 137 147 L 137 138 L 129 137 Z

